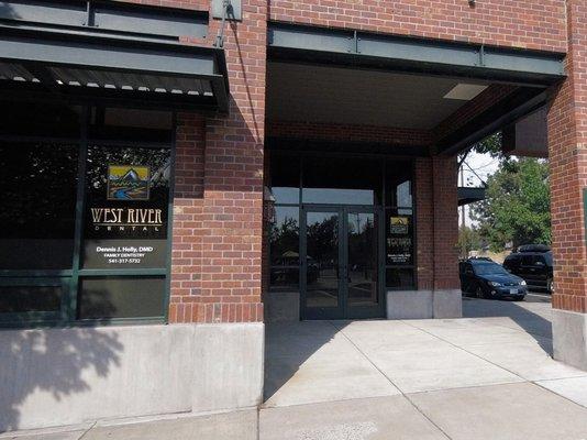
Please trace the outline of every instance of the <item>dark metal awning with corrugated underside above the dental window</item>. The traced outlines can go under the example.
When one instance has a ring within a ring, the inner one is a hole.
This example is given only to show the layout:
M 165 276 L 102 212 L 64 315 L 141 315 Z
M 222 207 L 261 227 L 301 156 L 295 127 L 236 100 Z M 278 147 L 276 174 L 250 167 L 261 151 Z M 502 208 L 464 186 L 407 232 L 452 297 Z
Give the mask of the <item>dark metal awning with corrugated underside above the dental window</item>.
M 0 88 L 14 99 L 229 110 L 223 50 L 77 30 L 0 24 Z

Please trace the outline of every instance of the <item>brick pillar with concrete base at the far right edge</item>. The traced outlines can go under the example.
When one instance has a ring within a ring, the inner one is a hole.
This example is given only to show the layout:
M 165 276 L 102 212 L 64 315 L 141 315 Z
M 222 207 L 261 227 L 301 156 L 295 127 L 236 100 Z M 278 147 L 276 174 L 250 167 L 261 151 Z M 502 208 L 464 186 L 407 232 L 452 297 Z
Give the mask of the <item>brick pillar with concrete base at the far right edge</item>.
M 567 1 L 567 79 L 549 111 L 554 356 L 587 370 L 587 3 Z

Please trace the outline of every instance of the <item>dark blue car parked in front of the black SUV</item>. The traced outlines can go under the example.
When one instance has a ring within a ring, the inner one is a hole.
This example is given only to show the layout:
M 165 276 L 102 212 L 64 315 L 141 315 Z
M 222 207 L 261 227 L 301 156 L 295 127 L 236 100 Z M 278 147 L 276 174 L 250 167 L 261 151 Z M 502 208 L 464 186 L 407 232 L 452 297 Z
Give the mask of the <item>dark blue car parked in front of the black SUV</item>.
M 522 300 L 528 294 L 525 282 L 497 263 L 467 260 L 458 263 L 461 289 L 477 298 L 512 298 Z

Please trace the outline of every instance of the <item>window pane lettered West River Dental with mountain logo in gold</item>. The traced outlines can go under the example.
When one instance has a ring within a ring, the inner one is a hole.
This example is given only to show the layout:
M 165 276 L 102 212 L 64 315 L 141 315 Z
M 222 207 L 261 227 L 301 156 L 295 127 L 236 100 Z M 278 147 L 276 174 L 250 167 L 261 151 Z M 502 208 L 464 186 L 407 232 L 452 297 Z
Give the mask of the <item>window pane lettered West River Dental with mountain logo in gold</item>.
M 165 267 L 170 151 L 88 148 L 84 268 Z

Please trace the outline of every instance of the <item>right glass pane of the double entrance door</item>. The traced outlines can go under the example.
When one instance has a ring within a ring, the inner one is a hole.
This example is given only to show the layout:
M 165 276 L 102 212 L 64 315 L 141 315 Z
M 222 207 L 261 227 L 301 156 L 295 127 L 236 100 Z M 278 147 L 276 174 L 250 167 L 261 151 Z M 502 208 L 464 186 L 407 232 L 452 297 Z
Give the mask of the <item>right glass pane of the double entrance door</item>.
M 377 228 L 373 212 L 348 212 L 348 305 L 377 302 Z

